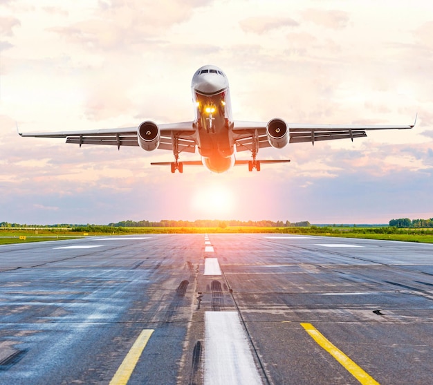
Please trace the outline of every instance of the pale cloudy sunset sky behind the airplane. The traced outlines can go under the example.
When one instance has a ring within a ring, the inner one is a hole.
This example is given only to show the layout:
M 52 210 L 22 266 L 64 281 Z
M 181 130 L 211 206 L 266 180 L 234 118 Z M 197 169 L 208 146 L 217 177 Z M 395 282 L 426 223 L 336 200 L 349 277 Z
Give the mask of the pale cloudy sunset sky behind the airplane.
M 234 120 L 416 126 L 261 149 L 291 163 L 222 174 L 17 135 L 192 120 L 205 64 L 228 76 Z M 0 0 L 0 222 L 432 218 L 432 124 L 429 1 Z

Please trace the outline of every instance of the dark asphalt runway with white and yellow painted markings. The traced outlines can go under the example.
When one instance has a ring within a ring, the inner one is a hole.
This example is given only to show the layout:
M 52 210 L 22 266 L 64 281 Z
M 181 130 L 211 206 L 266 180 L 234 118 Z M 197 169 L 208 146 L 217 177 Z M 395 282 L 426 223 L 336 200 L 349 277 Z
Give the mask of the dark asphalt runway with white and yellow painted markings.
M 283 234 L 0 247 L 0 384 L 433 384 L 433 245 Z

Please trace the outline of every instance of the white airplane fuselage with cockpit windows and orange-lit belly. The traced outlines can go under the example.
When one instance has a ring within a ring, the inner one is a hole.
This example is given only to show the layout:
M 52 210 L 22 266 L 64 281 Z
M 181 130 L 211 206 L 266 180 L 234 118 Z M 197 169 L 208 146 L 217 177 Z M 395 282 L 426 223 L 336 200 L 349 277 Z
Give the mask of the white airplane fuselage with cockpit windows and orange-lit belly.
M 192 77 L 191 88 L 201 161 L 210 171 L 222 173 L 235 162 L 228 79 L 220 68 L 203 66 Z

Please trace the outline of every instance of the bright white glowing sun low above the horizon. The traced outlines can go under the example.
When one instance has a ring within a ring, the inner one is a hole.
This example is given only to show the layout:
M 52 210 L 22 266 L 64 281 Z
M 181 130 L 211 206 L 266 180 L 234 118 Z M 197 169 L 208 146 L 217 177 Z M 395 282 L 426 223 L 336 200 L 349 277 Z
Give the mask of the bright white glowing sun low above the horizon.
M 191 207 L 197 219 L 231 218 L 232 191 L 220 185 L 201 187 L 192 197 Z

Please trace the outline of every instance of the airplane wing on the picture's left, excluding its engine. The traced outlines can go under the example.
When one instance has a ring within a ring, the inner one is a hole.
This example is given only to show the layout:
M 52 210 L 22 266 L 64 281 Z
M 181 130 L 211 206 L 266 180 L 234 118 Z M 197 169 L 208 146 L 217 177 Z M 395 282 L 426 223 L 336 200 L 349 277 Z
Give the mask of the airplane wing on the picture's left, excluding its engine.
M 193 122 L 159 124 L 160 144 L 158 149 L 173 150 L 177 139 L 179 152 L 195 152 L 196 132 Z M 23 137 L 33 138 L 66 138 L 66 143 L 102 144 L 107 146 L 138 146 L 137 127 L 121 129 L 95 129 L 83 131 L 58 131 L 42 133 L 19 133 Z

